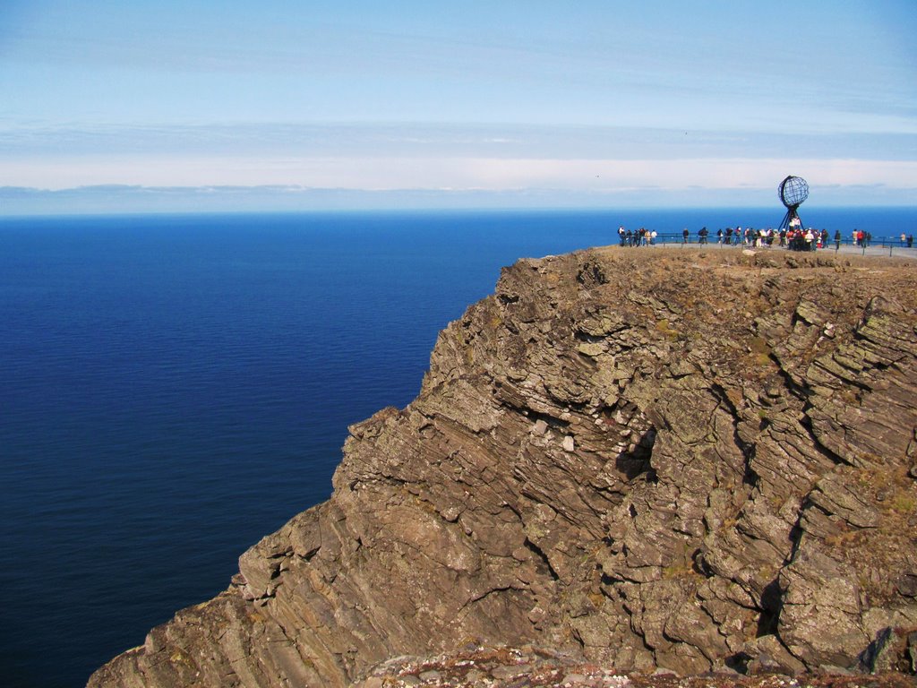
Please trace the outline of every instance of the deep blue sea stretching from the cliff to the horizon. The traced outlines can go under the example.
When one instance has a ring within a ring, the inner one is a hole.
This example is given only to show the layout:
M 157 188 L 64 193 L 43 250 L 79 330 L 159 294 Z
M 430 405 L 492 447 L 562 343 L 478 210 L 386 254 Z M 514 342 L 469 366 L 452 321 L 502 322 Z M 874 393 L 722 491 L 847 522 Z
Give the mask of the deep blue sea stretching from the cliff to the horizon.
M 0 684 L 83 685 L 225 589 L 502 266 L 781 210 L 0 217 Z

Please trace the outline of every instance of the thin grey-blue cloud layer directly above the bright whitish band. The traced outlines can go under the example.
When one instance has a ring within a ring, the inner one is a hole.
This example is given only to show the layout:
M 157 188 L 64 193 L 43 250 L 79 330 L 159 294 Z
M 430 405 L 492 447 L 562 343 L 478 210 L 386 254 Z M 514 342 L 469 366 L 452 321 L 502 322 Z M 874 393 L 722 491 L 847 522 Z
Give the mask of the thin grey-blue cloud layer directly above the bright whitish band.
M 422 122 L 198 125 L 0 123 L 0 154 L 58 158 L 177 156 L 673 160 L 917 159 L 914 133 L 793 134 L 748 129 L 573 127 Z

